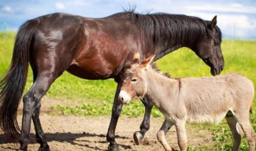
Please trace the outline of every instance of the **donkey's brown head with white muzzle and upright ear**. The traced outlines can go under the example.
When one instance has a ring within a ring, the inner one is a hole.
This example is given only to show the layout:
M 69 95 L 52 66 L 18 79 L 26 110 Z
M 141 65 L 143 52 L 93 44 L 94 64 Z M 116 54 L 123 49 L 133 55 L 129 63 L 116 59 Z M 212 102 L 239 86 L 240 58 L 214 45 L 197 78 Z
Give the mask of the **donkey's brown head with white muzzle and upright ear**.
M 131 100 L 142 98 L 147 92 L 146 70 L 151 69 L 155 55 L 150 56 L 141 63 L 135 63 L 126 69 L 122 77 L 122 87 L 118 100 L 127 104 Z

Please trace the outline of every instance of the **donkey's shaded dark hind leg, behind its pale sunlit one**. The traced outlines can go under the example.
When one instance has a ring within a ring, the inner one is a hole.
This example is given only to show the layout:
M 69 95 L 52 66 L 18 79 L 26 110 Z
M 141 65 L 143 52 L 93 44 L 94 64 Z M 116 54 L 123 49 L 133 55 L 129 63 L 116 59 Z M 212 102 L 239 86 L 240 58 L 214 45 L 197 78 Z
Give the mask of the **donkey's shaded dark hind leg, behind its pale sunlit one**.
M 244 132 L 233 115 L 226 116 L 226 120 L 234 139 L 232 151 L 238 151 Z

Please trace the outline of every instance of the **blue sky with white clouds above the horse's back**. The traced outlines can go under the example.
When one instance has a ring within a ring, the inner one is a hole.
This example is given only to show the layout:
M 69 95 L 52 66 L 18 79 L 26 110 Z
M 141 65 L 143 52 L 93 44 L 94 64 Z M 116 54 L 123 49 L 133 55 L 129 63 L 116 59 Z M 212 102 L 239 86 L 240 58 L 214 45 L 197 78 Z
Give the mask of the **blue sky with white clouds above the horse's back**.
M 256 40 L 256 0 L 1 0 L 0 30 L 17 31 L 28 19 L 54 12 L 104 17 L 136 5 L 136 12 L 198 16 L 217 25 L 223 38 Z M 6 25 L 4 25 L 6 23 Z

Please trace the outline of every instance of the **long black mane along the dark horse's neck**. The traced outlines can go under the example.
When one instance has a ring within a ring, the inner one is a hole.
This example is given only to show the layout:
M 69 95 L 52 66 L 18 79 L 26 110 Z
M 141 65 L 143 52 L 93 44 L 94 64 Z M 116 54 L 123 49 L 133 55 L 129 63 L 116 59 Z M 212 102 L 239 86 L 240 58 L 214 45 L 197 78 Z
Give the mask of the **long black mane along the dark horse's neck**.
M 156 50 L 166 50 L 168 45 L 197 43 L 203 35 L 210 35 L 211 21 L 194 16 L 168 13 L 136 13 L 135 8 L 114 15 L 130 19 L 137 24 L 139 31 L 151 37 Z M 215 26 L 221 41 L 221 31 Z M 190 36 L 187 36 L 190 35 Z

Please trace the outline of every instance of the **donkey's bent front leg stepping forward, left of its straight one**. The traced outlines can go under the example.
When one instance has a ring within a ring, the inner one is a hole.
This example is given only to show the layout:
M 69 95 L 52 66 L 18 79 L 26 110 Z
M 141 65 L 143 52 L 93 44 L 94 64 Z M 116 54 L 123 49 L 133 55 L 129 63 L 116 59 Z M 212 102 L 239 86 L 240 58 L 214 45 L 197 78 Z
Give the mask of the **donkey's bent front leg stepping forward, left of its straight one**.
M 164 149 L 166 151 L 172 151 L 171 147 L 168 145 L 168 143 L 165 139 L 165 135 L 166 135 L 167 131 L 172 127 L 172 125 L 173 124 L 170 121 L 165 119 L 162 127 L 157 132 L 157 140 L 162 144 L 162 146 L 164 147 Z

